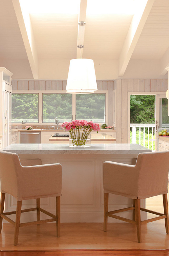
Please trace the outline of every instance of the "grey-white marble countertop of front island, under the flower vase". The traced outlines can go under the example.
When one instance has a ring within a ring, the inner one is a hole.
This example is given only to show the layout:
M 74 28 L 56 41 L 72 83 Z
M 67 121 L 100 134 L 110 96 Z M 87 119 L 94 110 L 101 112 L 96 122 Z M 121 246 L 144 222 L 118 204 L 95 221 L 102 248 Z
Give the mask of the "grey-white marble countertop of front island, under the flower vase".
M 17 154 L 139 154 L 151 152 L 138 144 L 91 144 L 89 148 L 70 148 L 68 144 L 11 144 L 4 151 Z

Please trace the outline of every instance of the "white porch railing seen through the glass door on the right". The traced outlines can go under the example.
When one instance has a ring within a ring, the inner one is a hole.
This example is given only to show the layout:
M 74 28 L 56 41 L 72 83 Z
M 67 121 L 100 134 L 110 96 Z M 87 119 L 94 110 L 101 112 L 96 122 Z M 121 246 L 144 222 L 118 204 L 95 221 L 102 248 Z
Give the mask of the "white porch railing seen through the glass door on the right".
M 155 151 L 155 124 L 130 124 L 131 143 L 140 144 Z

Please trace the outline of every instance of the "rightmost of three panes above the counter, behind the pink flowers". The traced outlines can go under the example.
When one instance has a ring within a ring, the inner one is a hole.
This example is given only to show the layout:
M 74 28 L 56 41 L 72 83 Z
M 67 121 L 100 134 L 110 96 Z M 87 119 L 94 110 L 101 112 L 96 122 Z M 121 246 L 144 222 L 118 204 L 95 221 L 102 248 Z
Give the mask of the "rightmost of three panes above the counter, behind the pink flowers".
M 105 94 L 76 94 L 76 119 L 105 122 Z

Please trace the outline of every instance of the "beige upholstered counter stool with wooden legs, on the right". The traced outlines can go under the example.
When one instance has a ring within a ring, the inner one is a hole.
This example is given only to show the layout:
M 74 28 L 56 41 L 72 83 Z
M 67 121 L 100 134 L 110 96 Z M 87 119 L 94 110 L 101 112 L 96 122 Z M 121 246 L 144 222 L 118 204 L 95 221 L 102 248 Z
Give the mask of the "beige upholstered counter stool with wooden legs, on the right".
M 168 234 L 168 169 L 169 151 L 140 153 L 138 154 L 136 165 L 104 162 L 104 231 L 107 231 L 107 217 L 109 216 L 136 224 L 139 243 L 141 243 L 141 224 L 143 223 L 165 219 L 166 233 Z M 109 193 L 132 198 L 133 206 L 108 212 Z M 140 208 L 140 199 L 157 195 L 163 195 L 164 214 Z M 126 210 L 133 210 L 133 220 L 115 215 L 115 213 Z M 141 221 L 140 210 L 157 214 L 159 217 Z

